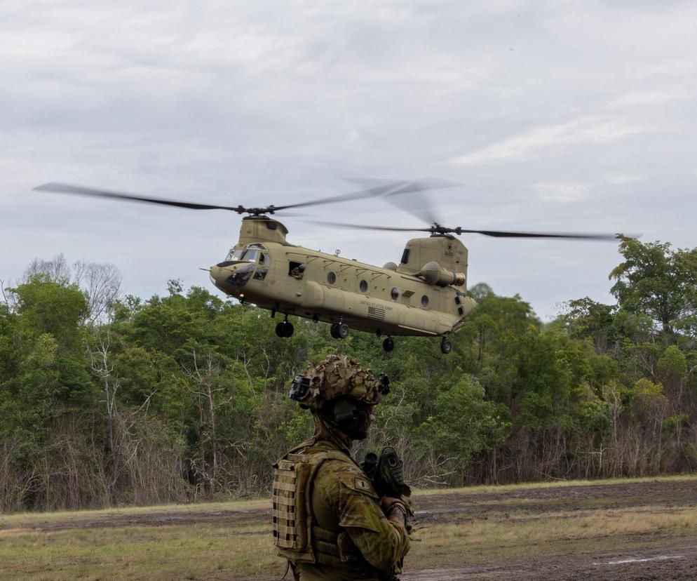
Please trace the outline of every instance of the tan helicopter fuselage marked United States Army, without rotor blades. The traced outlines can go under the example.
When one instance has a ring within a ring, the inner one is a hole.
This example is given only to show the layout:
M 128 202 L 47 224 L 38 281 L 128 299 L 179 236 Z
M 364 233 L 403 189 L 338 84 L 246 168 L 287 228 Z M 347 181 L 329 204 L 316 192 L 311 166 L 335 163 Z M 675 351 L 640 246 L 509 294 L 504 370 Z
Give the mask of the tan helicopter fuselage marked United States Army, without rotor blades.
M 294 246 L 266 216 L 244 218 L 240 239 L 210 268 L 215 286 L 273 313 L 379 335 L 449 335 L 475 307 L 465 294 L 467 249 L 452 236 L 407 243 L 399 266 L 376 267 Z

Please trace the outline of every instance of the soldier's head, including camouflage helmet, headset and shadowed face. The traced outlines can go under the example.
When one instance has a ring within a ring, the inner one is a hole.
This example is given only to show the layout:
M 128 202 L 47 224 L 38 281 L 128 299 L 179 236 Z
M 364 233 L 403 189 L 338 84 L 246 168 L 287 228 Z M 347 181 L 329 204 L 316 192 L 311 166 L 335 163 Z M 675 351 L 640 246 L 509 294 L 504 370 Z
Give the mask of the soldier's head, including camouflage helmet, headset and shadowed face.
M 370 369 L 348 356 L 329 355 L 293 380 L 290 397 L 352 440 L 363 440 L 372 422 L 373 407 L 389 390 L 385 375 L 375 379 Z

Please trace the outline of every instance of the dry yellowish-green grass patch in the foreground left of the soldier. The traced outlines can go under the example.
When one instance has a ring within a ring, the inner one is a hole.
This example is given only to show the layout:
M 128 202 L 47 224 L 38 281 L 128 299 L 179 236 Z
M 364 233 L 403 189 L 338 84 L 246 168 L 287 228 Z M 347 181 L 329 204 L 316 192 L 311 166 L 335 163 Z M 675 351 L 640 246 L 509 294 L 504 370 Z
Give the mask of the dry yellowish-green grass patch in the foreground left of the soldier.
M 0 537 L 1 580 L 278 577 L 269 526 L 220 523 L 22 532 Z

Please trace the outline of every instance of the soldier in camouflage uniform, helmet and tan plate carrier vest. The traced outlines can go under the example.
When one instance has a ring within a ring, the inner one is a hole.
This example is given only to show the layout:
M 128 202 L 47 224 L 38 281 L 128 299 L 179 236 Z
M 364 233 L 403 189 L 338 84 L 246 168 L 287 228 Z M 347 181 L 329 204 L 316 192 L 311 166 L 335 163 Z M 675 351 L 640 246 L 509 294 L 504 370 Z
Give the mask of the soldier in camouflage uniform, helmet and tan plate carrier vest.
M 407 507 L 382 497 L 351 458 L 388 391 L 345 355 L 295 378 L 290 397 L 309 408 L 313 436 L 274 465 L 273 535 L 295 580 L 391 580 L 409 550 Z

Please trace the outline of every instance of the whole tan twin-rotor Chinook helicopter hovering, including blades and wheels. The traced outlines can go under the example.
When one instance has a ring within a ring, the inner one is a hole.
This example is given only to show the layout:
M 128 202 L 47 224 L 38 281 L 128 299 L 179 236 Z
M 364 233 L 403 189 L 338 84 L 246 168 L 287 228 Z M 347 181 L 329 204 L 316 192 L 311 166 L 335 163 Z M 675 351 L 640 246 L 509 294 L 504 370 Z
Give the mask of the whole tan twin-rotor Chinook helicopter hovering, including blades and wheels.
M 170 199 L 151 198 L 61 183 L 48 183 L 34 189 L 97 196 L 126 201 L 158 203 L 194 210 L 227 210 L 246 214 L 240 237 L 225 260 L 210 267 L 212 283 L 241 302 L 269 309 L 271 317 L 283 315 L 276 324 L 276 335 L 290 337 L 293 325 L 288 316 L 301 316 L 331 324 L 331 335 L 345 339 L 351 328 L 385 335 L 383 348 L 392 351 L 393 336 L 440 336 L 440 349 L 449 353 L 449 337 L 463 324 L 476 303 L 466 295 L 467 248 L 454 234 L 484 234 L 506 238 L 615 239 L 614 234 L 557 234 L 543 232 L 501 232 L 443 227 L 428 213 L 428 227 L 375 227 L 331 223 L 332 226 L 428 232 L 430 236 L 407 242 L 399 264 L 388 262 L 377 267 L 327 254 L 286 240 L 287 228 L 271 218 L 290 208 L 337 203 L 373 196 L 395 201 L 395 196 L 428 189 L 452 187 L 444 180 L 381 181 L 351 194 L 333 196 L 283 206 L 217 206 Z M 424 218 L 423 214 L 420 214 Z M 326 222 L 323 222 L 326 224 Z

